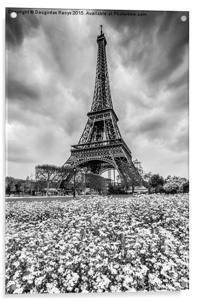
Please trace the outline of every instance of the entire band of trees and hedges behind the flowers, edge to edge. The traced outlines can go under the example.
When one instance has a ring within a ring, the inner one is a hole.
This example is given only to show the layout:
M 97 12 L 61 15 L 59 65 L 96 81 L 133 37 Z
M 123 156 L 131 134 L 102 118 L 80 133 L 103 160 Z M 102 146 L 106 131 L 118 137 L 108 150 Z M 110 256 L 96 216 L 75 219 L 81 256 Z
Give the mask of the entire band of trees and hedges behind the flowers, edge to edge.
M 78 193 L 90 188 L 90 193 L 97 192 L 108 194 L 125 194 L 134 193 L 136 186 L 145 186 L 149 193 L 167 193 L 174 194 L 179 192 L 189 192 L 189 180 L 178 176 L 168 176 L 164 179 L 159 174 L 145 172 L 142 163 L 135 159 L 133 161 L 135 169 L 128 164 L 122 163 L 121 176 L 117 176 L 117 183 L 114 184 L 110 179 L 98 176 L 92 173 L 85 174 L 76 168 L 76 172 L 70 165 L 62 167 L 55 165 L 37 165 L 35 167 L 35 179 L 33 175 L 27 176 L 26 179 L 6 177 L 6 194 L 22 192 L 23 194 L 35 195 L 46 189 L 48 194 L 50 188 L 56 188 L 60 191 L 74 190 L 74 173 L 75 188 Z M 137 173 L 136 173 L 137 172 Z M 58 185 L 59 184 L 59 185 Z

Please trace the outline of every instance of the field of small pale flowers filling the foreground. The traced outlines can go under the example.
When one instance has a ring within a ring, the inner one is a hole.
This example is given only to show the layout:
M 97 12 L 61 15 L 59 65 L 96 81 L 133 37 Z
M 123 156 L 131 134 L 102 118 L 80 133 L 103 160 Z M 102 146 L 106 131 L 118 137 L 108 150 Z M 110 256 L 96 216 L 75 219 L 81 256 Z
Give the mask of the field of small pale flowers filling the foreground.
M 188 216 L 188 194 L 6 202 L 6 293 L 188 288 Z

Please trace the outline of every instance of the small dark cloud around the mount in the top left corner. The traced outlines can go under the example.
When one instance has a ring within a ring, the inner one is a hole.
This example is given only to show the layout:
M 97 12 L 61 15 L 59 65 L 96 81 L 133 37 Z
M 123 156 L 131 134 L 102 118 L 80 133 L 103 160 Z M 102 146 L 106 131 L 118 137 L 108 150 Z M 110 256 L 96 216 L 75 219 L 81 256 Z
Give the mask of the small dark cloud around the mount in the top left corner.
M 35 15 L 20 15 L 20 18 L 11 18 L 8 11 L 20 10 L 21 8 L 6 9 L 6 37 L 8 46 L 21 45 L 25 36 L 32 34 L 39 27 L 39 21 Z

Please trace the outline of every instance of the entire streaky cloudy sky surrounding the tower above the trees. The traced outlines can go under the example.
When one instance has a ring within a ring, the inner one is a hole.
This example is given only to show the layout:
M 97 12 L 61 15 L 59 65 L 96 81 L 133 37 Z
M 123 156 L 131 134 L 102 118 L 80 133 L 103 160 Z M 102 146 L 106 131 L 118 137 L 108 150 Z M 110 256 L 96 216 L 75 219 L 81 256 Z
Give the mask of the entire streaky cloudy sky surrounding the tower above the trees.
M 8 14 L 8 176 L 69 158 L 92 105 L 102 24 L 114 110 L 133 159 L 147 172 L 188 177 L 189 16 L 146 13 Z

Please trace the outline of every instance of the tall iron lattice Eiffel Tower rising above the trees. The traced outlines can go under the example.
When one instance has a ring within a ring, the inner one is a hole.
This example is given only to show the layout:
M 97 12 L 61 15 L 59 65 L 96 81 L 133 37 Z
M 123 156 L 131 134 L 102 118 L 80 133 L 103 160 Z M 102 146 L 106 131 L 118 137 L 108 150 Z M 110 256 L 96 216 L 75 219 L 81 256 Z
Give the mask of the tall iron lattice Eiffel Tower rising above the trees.
M 97 37 L 98 56 L 94 98 L 91 111 L 87 113 L 88 121 L 77 145 L 71 146 L 71 156 L 66 161 L 85 173 L 102 174 L 116 169 L 120 176 L 121 164 L 127 162 L 135 169 L 131 151 L 123 141 L 117 122 L 118 117 L 113 109 L 107 57 L 107 41 L 104 33 Z M 136 171 L 137 173 L 137 171 Z

